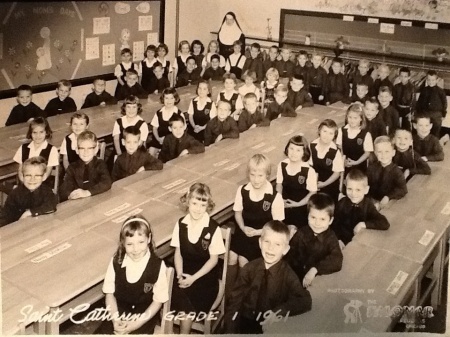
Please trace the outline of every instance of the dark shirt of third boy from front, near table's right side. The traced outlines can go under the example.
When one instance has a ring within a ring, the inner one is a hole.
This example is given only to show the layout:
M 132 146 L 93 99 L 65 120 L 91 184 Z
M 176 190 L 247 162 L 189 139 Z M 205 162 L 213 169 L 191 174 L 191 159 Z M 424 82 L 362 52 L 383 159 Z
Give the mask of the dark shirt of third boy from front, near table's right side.
M 373 200 L 367 196 L 358 204 L 354 204 L 348 197 L 342 198 L 337 203 L 334 214 L 331 228 L 345 245 L 352 240 L 353 229 L 360 222 L 364 222 L 367 229 L 387 230 L 390 226 L 386 217 L 375 208 Z

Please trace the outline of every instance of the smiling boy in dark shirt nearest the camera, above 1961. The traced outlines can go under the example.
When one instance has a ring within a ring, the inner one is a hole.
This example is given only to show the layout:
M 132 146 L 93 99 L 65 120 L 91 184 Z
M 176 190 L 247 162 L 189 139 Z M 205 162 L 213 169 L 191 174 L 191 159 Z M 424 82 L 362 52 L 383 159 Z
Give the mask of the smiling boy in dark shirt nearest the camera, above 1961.
M 259 238 L 259 258 L 247 263 L 225 309 L 225 333 L 261 334 L 277 315 L 311 310 L 311 295 L 283 256 L 289 251 L 289 229 L 270 220 Z

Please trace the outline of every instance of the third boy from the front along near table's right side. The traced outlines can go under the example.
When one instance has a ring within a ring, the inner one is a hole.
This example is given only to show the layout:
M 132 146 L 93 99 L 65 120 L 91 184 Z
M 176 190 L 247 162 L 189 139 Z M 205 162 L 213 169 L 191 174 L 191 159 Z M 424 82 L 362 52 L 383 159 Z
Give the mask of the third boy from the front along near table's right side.
M 386 217 L 378 212 L 367 196 L 367 175 L 358 169 L 351 169 L 345 181 L 346 196 L 336 205 L 332 225 L 341 247 L 347 245 L 363 229 L 387 230 L 390 226 Z

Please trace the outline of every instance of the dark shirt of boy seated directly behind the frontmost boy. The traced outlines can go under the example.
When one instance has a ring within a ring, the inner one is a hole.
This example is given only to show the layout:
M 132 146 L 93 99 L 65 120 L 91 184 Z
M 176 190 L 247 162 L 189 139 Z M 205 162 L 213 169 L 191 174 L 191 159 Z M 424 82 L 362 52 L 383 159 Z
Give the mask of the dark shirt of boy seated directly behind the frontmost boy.
M 342 251 L 331 228 L 316 234 L 311 227 L 304 226 L 294 234 L 289 246 L 291 249 L 285 259 L 300 282 L 313 267 L 317 269 L 317 275 L 336 273 L 342 268 Z

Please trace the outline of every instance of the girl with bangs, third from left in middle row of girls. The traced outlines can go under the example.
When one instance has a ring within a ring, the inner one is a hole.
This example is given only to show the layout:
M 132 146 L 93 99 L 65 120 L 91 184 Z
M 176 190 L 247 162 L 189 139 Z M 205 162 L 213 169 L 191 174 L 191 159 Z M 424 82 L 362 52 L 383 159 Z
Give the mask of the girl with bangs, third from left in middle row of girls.
M 123 145 L 122 139 L 123 130 L 125 130 L 126 127 L 136 125 L 141 130 L 141 143 L 139 145 L 145 146 L 148 137 L 148 125 L 140 116 L 142 113 L 142 104 L 139 102 L 138 97 L 131 95 L 125 98 L 120 112 L 123 116 L 116 119 L 112 133 L 114 149 L 118 156 L 125 152 L 125 146 Z

